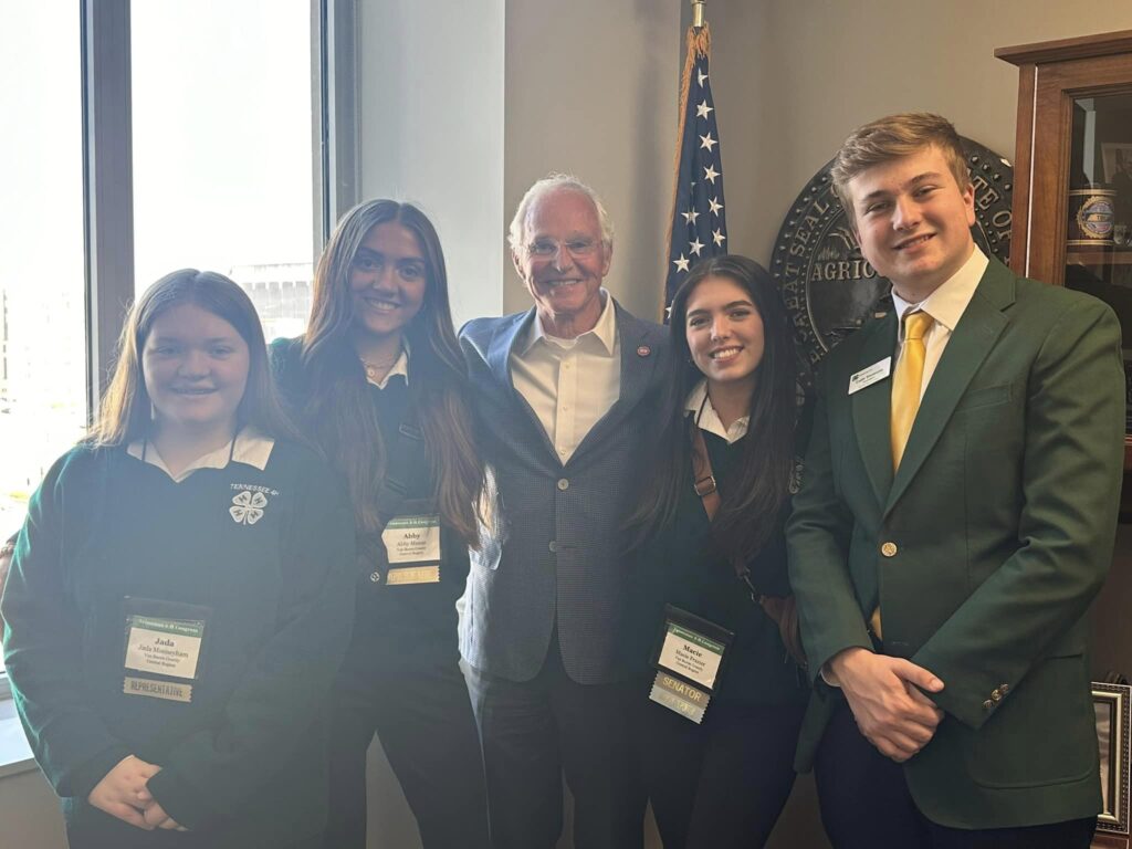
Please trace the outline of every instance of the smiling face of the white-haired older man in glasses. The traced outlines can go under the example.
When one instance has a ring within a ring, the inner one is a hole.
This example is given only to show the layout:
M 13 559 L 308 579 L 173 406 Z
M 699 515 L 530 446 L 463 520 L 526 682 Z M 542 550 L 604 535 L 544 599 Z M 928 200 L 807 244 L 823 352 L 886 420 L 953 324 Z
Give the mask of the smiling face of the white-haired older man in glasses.
M 548 191 L 531 203 L 523 237 L 512 257 L 547 332 L 577 336 L 593 329 L 612 258 L 593 201 L 573 189 Z

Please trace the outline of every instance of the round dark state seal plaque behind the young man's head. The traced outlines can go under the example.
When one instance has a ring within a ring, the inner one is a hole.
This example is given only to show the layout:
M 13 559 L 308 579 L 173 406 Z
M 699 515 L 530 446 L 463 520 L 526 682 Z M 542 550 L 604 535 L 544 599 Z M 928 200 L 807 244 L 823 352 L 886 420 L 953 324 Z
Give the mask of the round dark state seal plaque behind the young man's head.
M 1014 170 L 983 145 L 962 139 L 975 185 L 975 242 L 988 256 L 1010 261 Z M 801 190 L 774 242 L 771 273 L 782 290 L 798 341 L 816 363 L 860 327 L 887 295 L 889 282 L 860 255 L 825 163 Z

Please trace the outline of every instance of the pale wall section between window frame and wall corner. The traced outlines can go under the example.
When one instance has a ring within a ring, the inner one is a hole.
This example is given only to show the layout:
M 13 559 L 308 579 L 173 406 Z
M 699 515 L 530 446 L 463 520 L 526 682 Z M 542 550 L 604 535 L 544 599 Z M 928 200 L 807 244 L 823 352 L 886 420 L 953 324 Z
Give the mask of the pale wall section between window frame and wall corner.
M 504 0 L 358 0 L 361 197 L 420 206 L 460 325 L 501 309 Z

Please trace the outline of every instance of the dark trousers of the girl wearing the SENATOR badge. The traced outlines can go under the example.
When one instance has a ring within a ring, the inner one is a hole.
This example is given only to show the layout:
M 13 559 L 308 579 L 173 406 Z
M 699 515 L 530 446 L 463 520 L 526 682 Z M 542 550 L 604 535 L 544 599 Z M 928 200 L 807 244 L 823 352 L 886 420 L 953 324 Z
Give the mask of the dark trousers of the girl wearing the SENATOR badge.
M 717 702 L 696 724 L 638 693 L 641 774 L 666 849 L 755 849 L 790 789 L 805 704 Z

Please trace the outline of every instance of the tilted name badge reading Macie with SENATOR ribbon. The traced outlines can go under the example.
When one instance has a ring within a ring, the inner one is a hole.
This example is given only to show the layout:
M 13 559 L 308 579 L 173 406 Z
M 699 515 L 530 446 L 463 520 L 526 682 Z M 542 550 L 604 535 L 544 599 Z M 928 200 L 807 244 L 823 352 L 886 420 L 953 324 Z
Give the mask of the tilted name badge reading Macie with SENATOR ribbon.
M 734 638 L 727 628 L 666 604 L 649 698 L 697 724 L 703 722 Z

